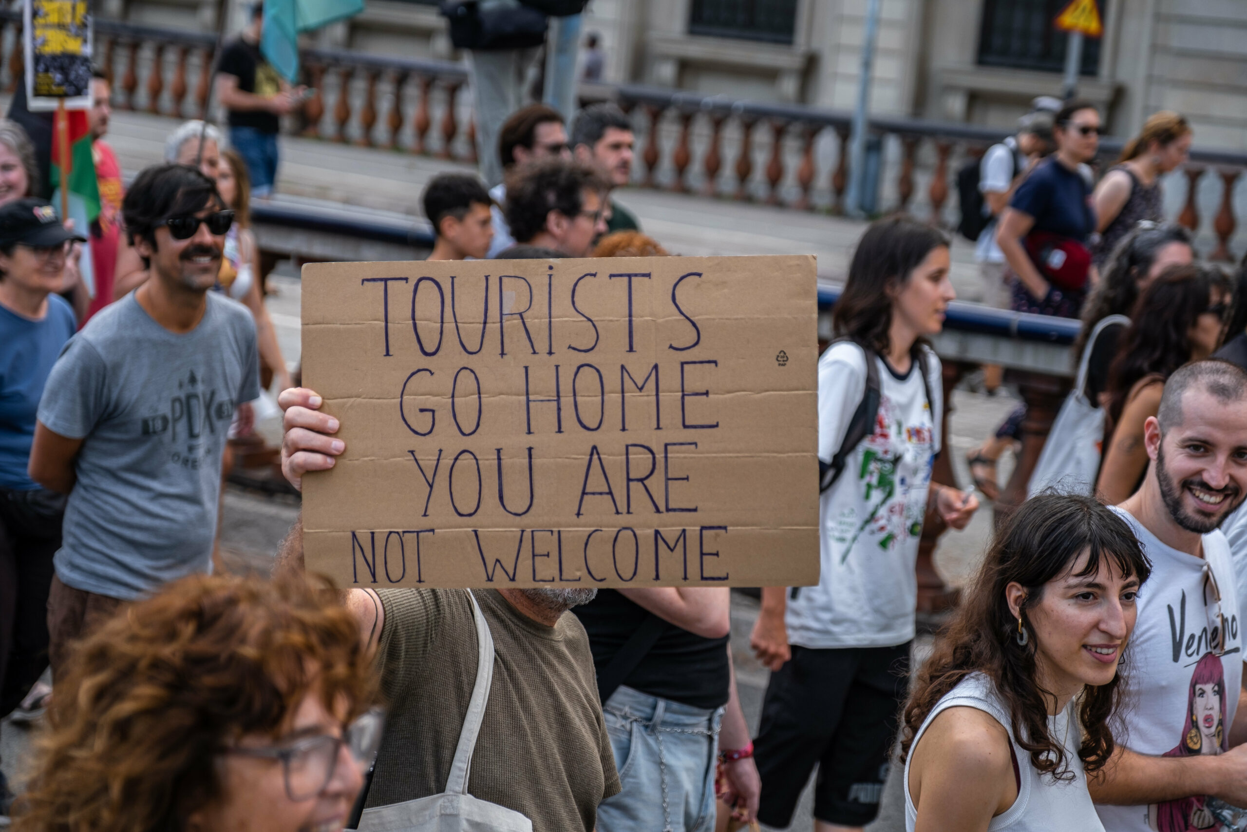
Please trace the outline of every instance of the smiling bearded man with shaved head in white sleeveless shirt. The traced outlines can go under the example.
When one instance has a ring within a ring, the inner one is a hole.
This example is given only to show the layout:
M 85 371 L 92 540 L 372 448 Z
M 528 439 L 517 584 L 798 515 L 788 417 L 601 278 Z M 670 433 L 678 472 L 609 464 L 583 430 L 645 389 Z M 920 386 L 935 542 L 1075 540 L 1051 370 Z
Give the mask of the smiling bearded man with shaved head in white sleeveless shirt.
M 1220 530 L 1247 493 L 1247 373 L 1178 369 L 1143 435 L 1147 475 L 1114 509 L 1152 561 L 1122 671 L 1130 747 L 1089 785 L 1109 832 L 1221 828 L 1226 805 L 1247 806 L 1242 622 Z

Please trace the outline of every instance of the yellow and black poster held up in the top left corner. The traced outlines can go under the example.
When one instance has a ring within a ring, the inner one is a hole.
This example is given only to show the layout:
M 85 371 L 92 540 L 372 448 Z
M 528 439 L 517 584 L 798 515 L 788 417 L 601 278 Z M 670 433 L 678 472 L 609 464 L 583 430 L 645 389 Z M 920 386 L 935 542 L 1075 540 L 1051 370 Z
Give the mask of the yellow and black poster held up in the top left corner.
M 26 106 L 91 106 L 91 11 L 87 0 L 24 0 Z

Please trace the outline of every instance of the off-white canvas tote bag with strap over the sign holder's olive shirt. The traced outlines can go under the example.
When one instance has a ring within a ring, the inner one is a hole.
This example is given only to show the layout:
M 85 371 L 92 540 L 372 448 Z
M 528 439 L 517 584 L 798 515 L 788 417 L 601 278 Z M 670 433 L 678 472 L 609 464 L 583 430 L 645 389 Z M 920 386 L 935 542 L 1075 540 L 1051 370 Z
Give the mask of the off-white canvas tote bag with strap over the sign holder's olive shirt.
M 450 766 L 446 791 L 414 801 L 374 806 L 359 818 L 359 832 L 532 832 L 532 821 L 514 810 L 478 800 L 468 793 L 468 772 L 476 736 L 485 718 L 485 702 L 494 681 L 494 637 L 489 622 L 471 590 L 473 619 L 476 622 L 476 685 L 468 702 L 468 716 L 459 733 L 459 747 Z

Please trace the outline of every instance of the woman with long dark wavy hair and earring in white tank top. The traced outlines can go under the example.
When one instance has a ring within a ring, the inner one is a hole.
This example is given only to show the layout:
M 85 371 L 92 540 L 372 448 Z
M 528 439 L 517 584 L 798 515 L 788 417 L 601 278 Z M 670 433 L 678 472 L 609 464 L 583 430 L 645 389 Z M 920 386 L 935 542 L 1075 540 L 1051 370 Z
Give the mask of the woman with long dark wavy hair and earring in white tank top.
M 1094 498 L 1041 494 L 998 535 L 904 713 L 907 832 L 1100 831 L 1122 651 L 1151 565 Z

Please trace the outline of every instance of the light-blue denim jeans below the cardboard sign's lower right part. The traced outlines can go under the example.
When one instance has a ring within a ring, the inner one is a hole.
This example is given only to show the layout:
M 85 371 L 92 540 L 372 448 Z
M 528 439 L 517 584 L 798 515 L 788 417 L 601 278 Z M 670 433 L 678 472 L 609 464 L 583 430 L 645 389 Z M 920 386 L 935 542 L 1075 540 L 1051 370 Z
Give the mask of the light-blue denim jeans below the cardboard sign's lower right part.
M 602 706 L 622 791 L 597 806 L 599 832 L 710 832 L 723 709 L 619 687 Z

